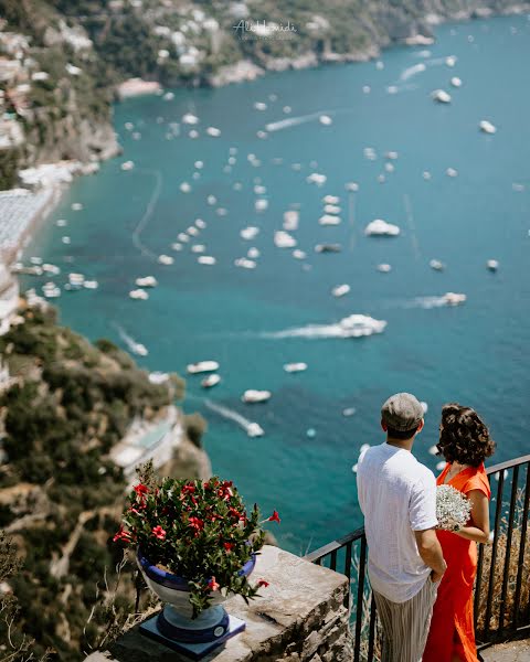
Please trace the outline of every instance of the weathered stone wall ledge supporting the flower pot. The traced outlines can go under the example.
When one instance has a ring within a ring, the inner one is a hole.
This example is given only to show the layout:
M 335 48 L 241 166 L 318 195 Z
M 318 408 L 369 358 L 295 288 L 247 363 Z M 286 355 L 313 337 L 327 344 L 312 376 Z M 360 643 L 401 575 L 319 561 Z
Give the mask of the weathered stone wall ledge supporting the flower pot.
M 349 583 L 343 575 L 266 545 L 253 579 L 265 579 L 263 597 L 248 605 L 239 596 L 225 602 L 246 630 L 204 662 L 351 662 Z M 147 639 L 135 627 L 85 662 L 184 662 L 187 658 Z

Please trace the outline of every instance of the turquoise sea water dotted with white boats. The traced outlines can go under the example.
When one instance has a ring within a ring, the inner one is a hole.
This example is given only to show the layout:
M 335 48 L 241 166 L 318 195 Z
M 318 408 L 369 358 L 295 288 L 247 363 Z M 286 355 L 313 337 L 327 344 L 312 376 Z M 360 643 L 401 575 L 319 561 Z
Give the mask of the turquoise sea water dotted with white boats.
M 66 218 L 67 228 L 50 222 L 26 253 L 59 264 L 57 282 L 71 270 L 99 281 L 96 291 L 64 292 L 59 300 L 63 322 L 75 330 L 123 344 L 118 323 L 148 348 L 139 363 L 149 370 L 182 373 L 190 362 L 221 363 L 223 382 L 208 393 L 200 377 L 188 378 L 184 406 L 209 420 L 205 447 L 214 471 L 233 479 L 265 513 L 277 509 L 283 521 L 275 533 L 297 553 L 360 524 L 351 468 L 361 445 L 382 441 L 379 410 L 393 392 L 411 391 L 428 403 L 416 451 L 433 470 L 437 460 L 427 449 L 448 401 L 476 407 L 490 424 L 496 459 L 528 452 L 530 21 L 445 25 L 437 38 L 428 49 L 385 52 L 384 68 L 372 62 L 286 72 L 222 89 L 176 90 L 172 100 L 145 97 L 117 106 L 124 156 L 104 163 L 97 175 L 76 180 L 53 216 Z M 449 55 L 457 57 L 454 67 L 445 63 Z M 452 76 L 462 78 L 462 88 L 451 87 Z M 363 94 L 364 85 L 370 94 Z M 396 87 L 394 94 L 389 86 Z M 436 88 L 448 90 L 453 103 L 433 103 Z M 267 108 L 255 109 L 255 102 Z M 170 122 L 188 111 L 200 118 L 199 138 L 191 139 L 188 127 L 168 140 Z M 332 117 L 332 125 L 322 126 L 318 115 L 307 118 L 319 113 Z M 303 119 L 266 139 L 256 137 L 267 122 L 289 118 Z M 497 134 L 480 134 L 481 119 L 492 121 Z M 128 121 L 140 140 L 125 129 Z M 206 136 L 208 126 L 219 127 L 221 137 Z M 231 147 L 236 162 L 224 172 Z M 363 156 L 367 147 L 375 150 L 375 160 Z M 390 150 L 399 152 L 391 173 L 383 158 Z M 251 164 L 251 153 L 261 166 Z M 136 168 L 123 172 L 127 159 Z M 204 167 L 194 180 L 197 160 Z M 458 177 L 447 177 L 447 168 Z M 307 183 L 311 172 L 326 174 L 326 184 Z M 378 181 L 381 173 L 384 183 Z M 180 191 L 183 181 L 190 193 Z M 233 189 L 237 181 L 241 191 Z M 358 182 L 357 193 L 347 193 L 348 181 Z M 254 210 L 256 184 L 266 186 L 268 209 L 262 213 Z M 341 199 L 337 227 L 318 224 L 326 194 Z M 209 205 L 208 195 L 218 204 Z M 73 202 L 83 203 L 83 211 L 72 211 Z M 273 244 L 283 212 L 293 205 L 300 211 L 293 234 L 306 260 Z M 218 215 L 219 206 L 227 210 L 225 216 Z M 365 237 L 363 227 L 377 217 L 400 225 L 402 235 Z M 169 247 L 195 218 L 208 227 L 190 245 L 205 244 L 215 266 L 199 265 L 189 245 L 181 253 Z M 247 225 L 261 228 L 252 242 L 240 237 Z M 64 234 L 71 245 L 61 243 Z M 315 244 L 326 242 L 340 242 L 342 253 L 314 253 Z M 261 252 L 257 268 L 235 267 L 251 246 Z M 174 264 L 157 264 L 151 254 L 161 253 L 173 255 Z M 432 258 L 446 270 L 432 270 Z M 489 258 L 500 261 L 497 274 L 487 271 Z M 379 273 L 380 263 L 393 270 Z M 135 278 L 147 274 L 159 287 L 148 301 L 129 299 Z M 343 282 L 350 293 L 333 298 L 331 288 Z M 430 307 L 431 297 L 446 291 L 465 292 L 467 302 Z M 277 335 L 356 312 L 386 320 L 385 332 L 357 340 Z M 308 370 L 285 373 L 283 364 L 294 361 L 307 362 Z M 240 396 L 246 388 L 267 388 L 273 397 L 244 405 Z M 205 397 L 256 420 L 266 435 L 248 438 L 236 423 L 210 410 Z M 343 417 L 344 407 L 354 407 L 356 415 Z

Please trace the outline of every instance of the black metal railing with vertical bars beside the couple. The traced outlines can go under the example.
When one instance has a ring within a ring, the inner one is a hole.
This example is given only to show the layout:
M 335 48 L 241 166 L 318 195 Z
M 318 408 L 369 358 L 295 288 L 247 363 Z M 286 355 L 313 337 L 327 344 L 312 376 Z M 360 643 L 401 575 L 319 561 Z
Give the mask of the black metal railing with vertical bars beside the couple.
M 530 455 L 495 465 L 487 473 L 492 494 L 492 540 L 478 549 L 474 616 L 479 651 L 530 630 Z M 367 574 L 364 528 L 357 528 L 305 558 L 348 577 L 353 660 L 378 660 L 381 629 Z

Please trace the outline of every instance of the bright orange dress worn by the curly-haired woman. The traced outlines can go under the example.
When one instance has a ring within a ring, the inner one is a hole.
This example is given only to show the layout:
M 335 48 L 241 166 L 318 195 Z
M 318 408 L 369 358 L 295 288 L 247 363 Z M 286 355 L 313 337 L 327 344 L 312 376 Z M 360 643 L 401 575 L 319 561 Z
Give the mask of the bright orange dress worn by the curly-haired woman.
M 451 465 L 436 480 L 443 485 Z M 464 494 L 480 490 L 489 499 L 488 477 L 480 467 L 468 467 L 447 483 Z M 434 605 L 431 630 L 423 662 L 451 662 L 453 655 L 463 662 L 478 662 L 473 624 L 473 585 L 477 573 L 477 544 L 449 531 L 436 532 L 447 563 Z

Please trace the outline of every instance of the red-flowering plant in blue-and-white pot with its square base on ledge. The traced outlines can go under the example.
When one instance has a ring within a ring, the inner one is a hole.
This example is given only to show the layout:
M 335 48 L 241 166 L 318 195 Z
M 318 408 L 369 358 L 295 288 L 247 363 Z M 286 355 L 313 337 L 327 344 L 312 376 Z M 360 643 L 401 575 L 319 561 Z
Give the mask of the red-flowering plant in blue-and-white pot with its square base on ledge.
M 183 652 L 206 654 L 244 629 L 222 602 L 229 594 L 245 600 L 267 581 L 248 579 L 264 544 L 263 522 L 250 513 L 232 481 L 165 478 L 135 485 L 115 542 L 134 547 L 151 590 L 166 602 L 142 623 L 144 633 Z

